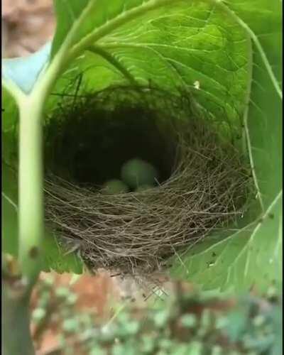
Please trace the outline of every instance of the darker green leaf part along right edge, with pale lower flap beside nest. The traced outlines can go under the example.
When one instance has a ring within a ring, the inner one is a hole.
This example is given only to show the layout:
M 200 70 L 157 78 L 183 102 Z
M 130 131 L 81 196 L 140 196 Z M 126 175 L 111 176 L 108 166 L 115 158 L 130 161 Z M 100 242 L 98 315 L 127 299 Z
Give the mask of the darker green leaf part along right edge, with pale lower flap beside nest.
M 281 15 L 280 2 L 229 4 L 241 26 L 249 27 L 253 41 L 253 78 L 245 124 L 262 217 L 217 244 L 204 245 L 202 251 L 192 249 L 174 273 L 182 275 L 182 268 L 186 268 L 190 280 L 206 287 L 235 285 L 243 290 L 253 284 L 265 288 L 282 282 Z

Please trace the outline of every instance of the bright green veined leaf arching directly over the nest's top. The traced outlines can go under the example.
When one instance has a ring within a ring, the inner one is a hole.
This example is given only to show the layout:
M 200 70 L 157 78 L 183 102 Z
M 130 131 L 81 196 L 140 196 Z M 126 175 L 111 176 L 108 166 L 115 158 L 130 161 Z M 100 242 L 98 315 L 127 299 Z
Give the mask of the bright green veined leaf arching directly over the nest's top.
M 70 1 L 70 16 L 61 1 L 55 4 L 58 21 L 69 26 L 65 34 L 61 30 L 55 35 L 53 53 L 67 28 L 80 23 L 70 55 L 87 38 L 96 40 L 99 54 L 111 56 L 141 84 L 151 80 L 165 89 L 191 87 L 198 103 L 216 116 L 225 112 L 236 118 L 244 109 L 249 39 L 214 1 L 84 1 L 82 13 Z

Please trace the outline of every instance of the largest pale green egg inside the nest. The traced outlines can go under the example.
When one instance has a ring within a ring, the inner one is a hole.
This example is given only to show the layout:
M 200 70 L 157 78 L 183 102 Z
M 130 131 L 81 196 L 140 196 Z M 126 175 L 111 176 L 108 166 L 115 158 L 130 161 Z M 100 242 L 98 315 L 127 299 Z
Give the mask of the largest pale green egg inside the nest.
M 141 185 L 154 186 L 158 180 L 158 170 L 145 160 L 131 159 L 121 168 L 121 180 L 132 189 Z

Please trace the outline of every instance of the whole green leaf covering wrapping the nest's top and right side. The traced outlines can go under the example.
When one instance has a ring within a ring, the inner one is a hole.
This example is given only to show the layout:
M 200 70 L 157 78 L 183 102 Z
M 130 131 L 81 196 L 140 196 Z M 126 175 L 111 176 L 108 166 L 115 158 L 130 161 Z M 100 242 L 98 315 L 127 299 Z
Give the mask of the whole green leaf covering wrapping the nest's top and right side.
M 55 11 L 50 67 L 68 65 L 57 91 L 82 71 L 92 91 L 129 80 L 186 87 L 214 119 L 244 126 L 258 192 L 253 213 L 231 236 L 212 236 L 177 256 L 173 274 L 208 289 L 280 280 L 280 2 L 57 0 Z M 53 264 L 60 256 L 50 255 Z

